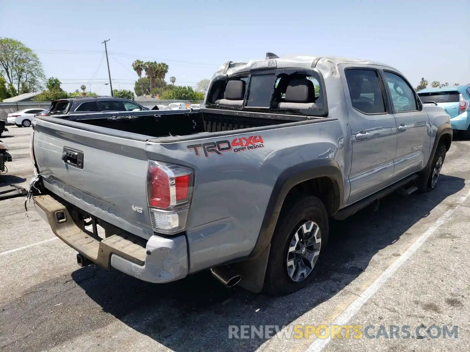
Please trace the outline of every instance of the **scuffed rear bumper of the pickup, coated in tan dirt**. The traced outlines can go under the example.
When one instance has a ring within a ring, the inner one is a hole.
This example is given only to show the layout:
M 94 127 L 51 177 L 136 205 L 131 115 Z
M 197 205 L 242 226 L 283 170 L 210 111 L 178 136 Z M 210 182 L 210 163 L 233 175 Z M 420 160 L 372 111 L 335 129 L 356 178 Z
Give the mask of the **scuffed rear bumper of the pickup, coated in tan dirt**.
M 184 235 L 172 238 L 153 235 L 145 248 L 118 235 L 98 241 L 75 224 L 61 202 L 49 195 L 35 196 L 33 201 L 55 236 L 103 268 L 115 268 L 151 283 L 175 281 L 188 275 Z

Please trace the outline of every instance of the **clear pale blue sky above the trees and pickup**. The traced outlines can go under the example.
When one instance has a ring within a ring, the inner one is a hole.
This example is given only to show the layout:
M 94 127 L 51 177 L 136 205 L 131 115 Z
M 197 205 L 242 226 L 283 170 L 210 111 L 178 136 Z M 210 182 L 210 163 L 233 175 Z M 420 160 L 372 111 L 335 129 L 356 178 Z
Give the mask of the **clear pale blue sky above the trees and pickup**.
M 282 54 L 381 61 L 417 85 L 470 83 L 470 1 L 0 0 L 0 36 L 35 50 L 47 77 L 109 94 L 133 89 L 131 63 L 164 61 L 196 86 L 226 61 Z M 101 65 L 100 65 L 101 62 Z

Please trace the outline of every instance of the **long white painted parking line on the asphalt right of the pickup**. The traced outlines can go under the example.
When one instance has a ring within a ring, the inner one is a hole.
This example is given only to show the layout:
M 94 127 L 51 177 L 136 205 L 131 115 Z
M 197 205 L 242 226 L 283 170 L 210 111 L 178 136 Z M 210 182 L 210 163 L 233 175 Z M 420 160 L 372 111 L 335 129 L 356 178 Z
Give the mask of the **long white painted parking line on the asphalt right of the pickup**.
M 373 297 L 382 285 L 403 265 L 405 262 L 418 250 L 421 245 L 437 230 L 439 227 L 446 222 L 454 211 L 462 205 L 462 203 L 470 195 L 470 191 L 465 196 L 461 196 L 461 199 L 457 201 L 456 206 L 448 209 L 436 222 L 434 222 L 426 232 L 421 235 L 416 242 L 411 245 L 405 253 L 403 253 L 393 264 L 388 267 L 382 275 L 380 275 L 366 290 L 362 291 L 358 298 L 354 299 L 352 303 L 341 313 L 333 324 L 346 325 L 352 317 L 360 310 L 362 306 Z M 319 352 L 331 341 L 331 335 L 325 339 L 315 339 L 313 343 L 307 348 L 306 352 Z

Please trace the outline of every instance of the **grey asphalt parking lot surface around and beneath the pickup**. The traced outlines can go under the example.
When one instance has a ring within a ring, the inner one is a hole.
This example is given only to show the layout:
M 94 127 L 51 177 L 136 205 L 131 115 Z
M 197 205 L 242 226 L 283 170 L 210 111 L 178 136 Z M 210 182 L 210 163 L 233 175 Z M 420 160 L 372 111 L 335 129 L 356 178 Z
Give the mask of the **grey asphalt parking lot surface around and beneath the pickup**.
M 27 186 L 31 128 L 9 130 L 0 139 L 13 161 L 0 185 Z M 436 190 L 392 194 L 378 208 L 331 222 L 315 282 L 282 298 L 226 289 L 207 272 L 156 285 L 79 268 L 76 252 L 32 205 L 25 212 L 24 198 L 1 200 L 0 350 L 470 351 L 467 179 L 470 141 L 456 138 Z M 374 328 L 362 338 L 229 338 L 230 325 L 336 323 Z M 444 325 L 458 326 L 457 336 L 427 331 Z M 409 338 L 403 326 L 410 327 Z

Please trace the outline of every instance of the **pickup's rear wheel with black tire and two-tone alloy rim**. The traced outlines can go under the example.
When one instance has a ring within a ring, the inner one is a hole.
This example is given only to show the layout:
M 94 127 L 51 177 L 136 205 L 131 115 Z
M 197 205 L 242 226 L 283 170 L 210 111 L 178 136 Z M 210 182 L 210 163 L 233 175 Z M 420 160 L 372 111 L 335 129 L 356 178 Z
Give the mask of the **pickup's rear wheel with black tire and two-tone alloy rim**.
M 301 196 L 282 208 L 271 240 L 265 293 L 287 295 L 313 280 L 328 226 L 328 213 L 316 197 Z

